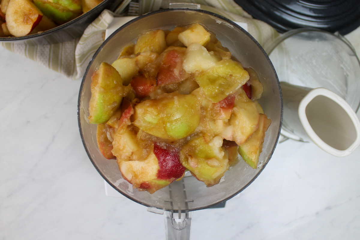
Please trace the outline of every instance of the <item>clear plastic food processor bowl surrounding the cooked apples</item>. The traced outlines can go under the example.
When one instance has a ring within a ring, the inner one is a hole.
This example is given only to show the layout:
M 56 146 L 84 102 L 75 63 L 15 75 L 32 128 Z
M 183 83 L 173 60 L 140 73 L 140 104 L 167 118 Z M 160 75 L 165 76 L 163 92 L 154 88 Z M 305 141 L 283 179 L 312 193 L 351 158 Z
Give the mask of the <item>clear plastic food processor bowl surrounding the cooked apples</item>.
M 203 182 L 189 174 L 189 176 L 183 177 L 181 181 L 175 181 L 154 194 L 138 191 L 123 179 L 116 160 L 105 159 L 98 150 L 96 125 L 89 124 L 87 121 L 91 97 L 91 76 L 100 63 L 114 62 L 123 47 L 134 42 L 144 31 L 169 30 L 175 26 L 195 22 L 202 24 L 208 31 L 214 33 L 222 45 L 228 47 L 233 57 L 239 60 L 244 67 L 253 68 L 264 86 L 264 92 L 259 103 L 265 114 L 271 118 L 271 125 L 266 132 L 258 168 L 253 169 L 240 159 L 234 167 L 225 173 L 220 183 L 212 187 L 206 187 Z M 223 203 L 240 193 L 255 180 L 269 162 L 278 142 L 282 125 L 282 112 L 282 95 L 275 69 L 258 42 L 229 19 L 204 10 L 184 8 L 161 9 L 142 15 L 123 25 L 109 36 L 91 59 L 82 79 L 78 98 L 78 123 L 81 138 L 91 162 L 100 175 L 118 192 L 139 204 L 147 206 L 150 211 L 157 213 L 165 211 L 166 214 L 170 213 L 171 219 L 185 220 L 189 220 L 189 216 L 191 217 L 190 211 Z M 179 224 L 172 221 L 171 225 L 175 229 L 182 229 L 186 227 L 186 221 L 181 221 Z

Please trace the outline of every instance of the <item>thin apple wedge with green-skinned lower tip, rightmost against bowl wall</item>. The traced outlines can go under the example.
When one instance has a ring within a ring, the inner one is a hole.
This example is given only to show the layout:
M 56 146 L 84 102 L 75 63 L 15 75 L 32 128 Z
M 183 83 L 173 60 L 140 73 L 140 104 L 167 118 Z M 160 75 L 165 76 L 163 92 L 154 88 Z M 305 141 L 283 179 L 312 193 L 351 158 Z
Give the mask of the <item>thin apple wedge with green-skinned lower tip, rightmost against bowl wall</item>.
M 265 132 L 270 126 L 271 120 L 265 114 L 260 114 L 260 120 L 256 131 L 243 143 L 239 145 L 238 152 L 250 167 L 256 169 L 259 156 L 264 143 Z

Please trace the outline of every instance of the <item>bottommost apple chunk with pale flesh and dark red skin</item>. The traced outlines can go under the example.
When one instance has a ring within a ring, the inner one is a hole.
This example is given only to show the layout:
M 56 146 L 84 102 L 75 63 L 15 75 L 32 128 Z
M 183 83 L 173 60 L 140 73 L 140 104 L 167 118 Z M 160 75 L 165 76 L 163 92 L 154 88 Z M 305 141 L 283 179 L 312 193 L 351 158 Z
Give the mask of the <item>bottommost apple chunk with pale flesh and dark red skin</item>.
M 122 161 L 118 165 L 123 178 L 134 188 L 150 194 L 183 177 L 185 173 L 177 149 L 163 148 L 156 142 L 153 152 L 145 160 Z

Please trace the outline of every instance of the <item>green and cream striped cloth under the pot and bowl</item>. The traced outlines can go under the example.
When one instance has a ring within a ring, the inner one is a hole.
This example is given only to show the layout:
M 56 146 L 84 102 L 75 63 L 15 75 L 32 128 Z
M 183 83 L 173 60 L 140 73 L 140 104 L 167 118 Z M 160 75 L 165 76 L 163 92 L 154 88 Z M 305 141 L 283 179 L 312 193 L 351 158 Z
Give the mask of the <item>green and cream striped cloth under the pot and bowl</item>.
M 253 19 L 233 0 L 140 0 L 139 13 L 144 14 L 160 8 L 168 8 L 169 3 L 197 3 L 201 9 L 217 13 L 232 21 L 244 22 L 248 25 L 248 32 L 264 46 L 272 41 L 278 32 L 268 24 Z M 6 49 L 30 58 L 39 64 L 50 68 L 64 76 L 77 80 L 82 78 L 87 64 L 95 51 L 104 41 L 105 30 L 112 22 L 116 14 L 104 10 L 98 18 L 91 23 L 80 39 L 62 42 L 58 44 L 37 45 L 33 41 L 26 42 L 3 42 L 1 45 Z M 75 53 L 75 54 L 74 54 Z

